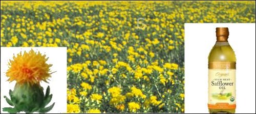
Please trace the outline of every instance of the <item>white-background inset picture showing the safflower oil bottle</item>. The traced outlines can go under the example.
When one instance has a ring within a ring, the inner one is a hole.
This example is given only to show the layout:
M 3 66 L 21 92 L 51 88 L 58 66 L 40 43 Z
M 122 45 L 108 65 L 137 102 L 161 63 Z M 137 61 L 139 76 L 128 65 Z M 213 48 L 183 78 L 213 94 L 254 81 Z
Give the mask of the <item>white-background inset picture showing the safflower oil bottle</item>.
M 255 23 L 185 23 L 186 113 L 254 113 L 250 83 Z

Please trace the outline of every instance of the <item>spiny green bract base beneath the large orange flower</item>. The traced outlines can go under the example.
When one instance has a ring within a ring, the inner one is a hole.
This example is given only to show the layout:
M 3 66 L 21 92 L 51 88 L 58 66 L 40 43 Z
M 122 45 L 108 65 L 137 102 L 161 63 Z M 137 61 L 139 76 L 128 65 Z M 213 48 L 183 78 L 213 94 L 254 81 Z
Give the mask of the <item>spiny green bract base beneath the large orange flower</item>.
M 46 95 L 44 95 L 44 89 L 40 84 L 18 84 L 16 83 L 14 91 L 9 91 L 10 98 L 6 99 L 7 103 L 12 107 L 5 107 L 3 111 L 8 111 L 9 113 L 17 113 L 20 111 L 25 111 L 26 113 L 39 112 L 45 113 L 50 111 L 54 104 L 46 107 L 52 99 L 52 94 L 50 95 L 50 87 L 47 87 Z

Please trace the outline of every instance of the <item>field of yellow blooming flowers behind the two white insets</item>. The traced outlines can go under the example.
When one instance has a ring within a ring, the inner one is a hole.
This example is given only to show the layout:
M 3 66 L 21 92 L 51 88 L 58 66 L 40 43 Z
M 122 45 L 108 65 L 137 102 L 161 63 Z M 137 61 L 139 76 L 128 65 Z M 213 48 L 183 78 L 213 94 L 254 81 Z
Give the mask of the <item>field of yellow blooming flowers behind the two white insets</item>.
M 184 23 L 254 17 L 242 1 L 1 1 L 1 46 L 68 47 L 68 112 L 184 112 Z

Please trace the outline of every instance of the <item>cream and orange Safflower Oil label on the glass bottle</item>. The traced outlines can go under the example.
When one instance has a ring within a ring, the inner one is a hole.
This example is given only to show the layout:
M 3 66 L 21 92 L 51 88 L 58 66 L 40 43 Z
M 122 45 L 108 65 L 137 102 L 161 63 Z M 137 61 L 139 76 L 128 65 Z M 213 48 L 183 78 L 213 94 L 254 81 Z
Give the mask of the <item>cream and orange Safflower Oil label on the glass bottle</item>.
M 208 108 L 236 108 L 236 62 L 209 62 Z

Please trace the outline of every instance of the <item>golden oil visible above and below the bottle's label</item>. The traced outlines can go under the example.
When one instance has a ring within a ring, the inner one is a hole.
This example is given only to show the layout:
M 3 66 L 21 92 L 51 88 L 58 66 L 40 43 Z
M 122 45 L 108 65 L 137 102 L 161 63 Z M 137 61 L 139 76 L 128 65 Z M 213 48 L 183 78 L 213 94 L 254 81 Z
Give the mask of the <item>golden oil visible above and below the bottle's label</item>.
M 228 42 L 216 42 L 211 49 L 208 62 L 236 62 L 236 55 Z M 209 109 L 209 113 L 234 113 L 236 109 Z

